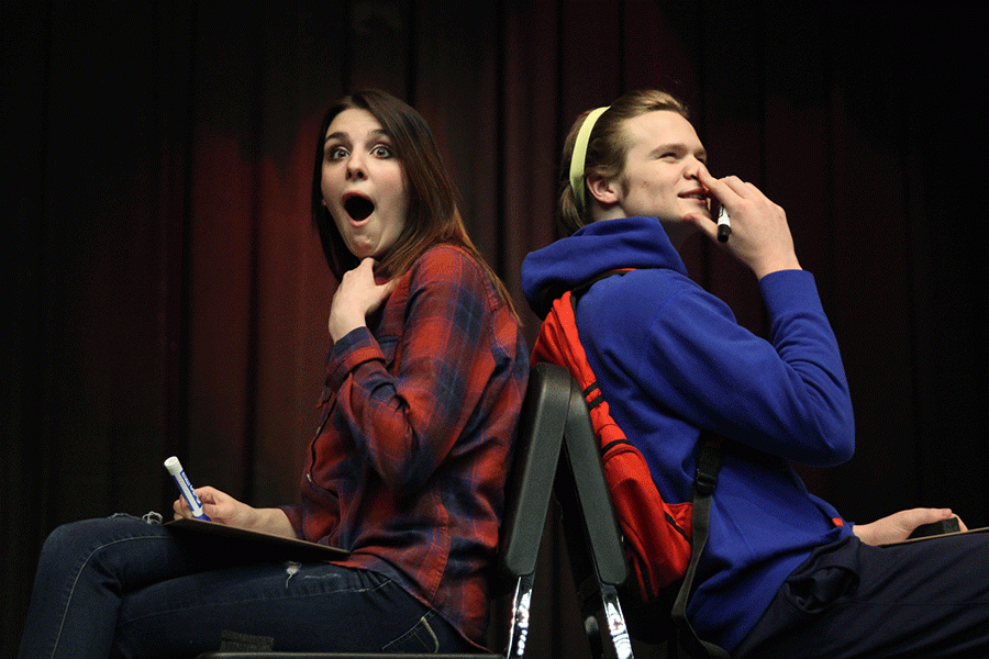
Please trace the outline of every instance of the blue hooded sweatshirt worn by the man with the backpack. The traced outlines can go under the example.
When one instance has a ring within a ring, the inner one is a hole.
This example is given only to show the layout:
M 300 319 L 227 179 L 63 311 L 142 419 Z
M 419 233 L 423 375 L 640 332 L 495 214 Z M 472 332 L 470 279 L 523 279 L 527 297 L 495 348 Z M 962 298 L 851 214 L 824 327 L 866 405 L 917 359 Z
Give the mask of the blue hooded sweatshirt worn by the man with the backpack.
M 545 314 L 565 289 L 615 268 L 581 299 L 577 326 L 612 416 L 643 453 L 664 499 L 690 499 L 700 428 L 732 439 L 688 615 L 731 651 L 818 546 L 852 534 L 790 461 L 852 457 L 852 401 L 813 276 L 785 270 L 759 288 L 771 340 L 741 327 L 687 276 L 655 217 L 607 220 L 533 252 L 522 289 Z

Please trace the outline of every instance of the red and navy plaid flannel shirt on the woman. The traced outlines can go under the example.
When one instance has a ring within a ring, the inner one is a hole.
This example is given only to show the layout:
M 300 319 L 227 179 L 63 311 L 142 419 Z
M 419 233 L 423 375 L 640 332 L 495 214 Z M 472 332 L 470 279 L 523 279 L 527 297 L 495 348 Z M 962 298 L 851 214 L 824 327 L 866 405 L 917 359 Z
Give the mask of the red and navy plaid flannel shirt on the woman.
M 299 537 L 351 550 L 342 565 L 388 576 L 480 645 L 524 337 L 453 246 L 426 252 L 368 326 L 330 350 L 302 501 L 284 510 Z

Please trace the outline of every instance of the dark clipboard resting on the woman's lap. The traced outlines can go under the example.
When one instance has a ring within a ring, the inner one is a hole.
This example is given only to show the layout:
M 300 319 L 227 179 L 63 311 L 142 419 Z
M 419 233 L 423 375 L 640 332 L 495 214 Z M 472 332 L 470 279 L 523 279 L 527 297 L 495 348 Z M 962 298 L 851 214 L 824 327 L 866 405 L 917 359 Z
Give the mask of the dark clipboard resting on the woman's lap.
M 203 543 L 214 543 L 220 550 L 236 551 L 237 555 L 257 554 L 259 560 L 329 561 L 341 560 L 349 551 L 309 540 L 285 538 L 267 533 L 234 528 L 201 520 L 174 520 L 165 524 L 178 533 L 198 535 Z

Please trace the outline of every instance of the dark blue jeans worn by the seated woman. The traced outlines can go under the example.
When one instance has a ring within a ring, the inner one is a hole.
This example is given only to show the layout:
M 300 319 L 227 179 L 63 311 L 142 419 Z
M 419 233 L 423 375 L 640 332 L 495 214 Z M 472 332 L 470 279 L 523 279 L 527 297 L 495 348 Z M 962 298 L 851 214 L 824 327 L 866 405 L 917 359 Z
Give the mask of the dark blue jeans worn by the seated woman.
M 464 651 L 456 630 L 381 574 L 264 562 L 118 515 L 62 526 L 42 549 L 20 659 L 195 657 L 226 635 L 275 650 Z

